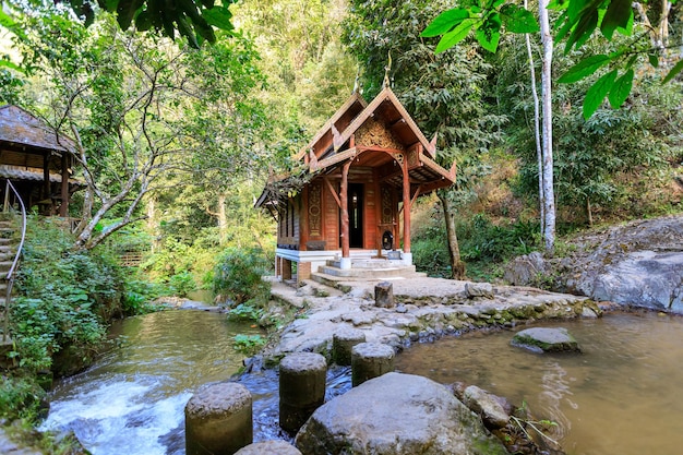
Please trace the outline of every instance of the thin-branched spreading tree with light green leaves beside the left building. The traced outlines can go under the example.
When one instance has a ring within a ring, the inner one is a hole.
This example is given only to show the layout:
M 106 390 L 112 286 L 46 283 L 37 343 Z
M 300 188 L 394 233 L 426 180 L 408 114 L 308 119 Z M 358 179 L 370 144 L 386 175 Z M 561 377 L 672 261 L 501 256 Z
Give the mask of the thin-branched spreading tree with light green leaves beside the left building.
M 75 140 L 86 182 L 77 247 L 144 218 L 143 197 L 169 177 L 220 167 L 229 181 L 240 164 L 260 164 L 257 134 L 236 133 L 262 124 L 248 41 L 200 51 L 121 33 L 107 15 L 89 28 L 55 10 L 24 19 L 25 64 L 49 82 L 36 107 Z

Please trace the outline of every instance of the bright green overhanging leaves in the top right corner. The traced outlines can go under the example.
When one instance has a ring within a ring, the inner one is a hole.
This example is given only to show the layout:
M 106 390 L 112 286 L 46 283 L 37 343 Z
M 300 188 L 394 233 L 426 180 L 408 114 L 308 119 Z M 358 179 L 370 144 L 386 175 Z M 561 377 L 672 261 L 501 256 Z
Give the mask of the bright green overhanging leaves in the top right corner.
M 667 2 L 667 0 L 663 0 Z M 484 49 L 495 52 L 500 40 L 502 25 L 512 33 L 536 33 L 538 26 L 534 22 L 534 15 L 524 8 L 505 0 L 467 0 L 464 5 L 447 10 L 436 16 L 424 29 L 422 36 L 440 36 L 436 52 L 450 49 L 464 40 L 470 31 L 476 31 L 476 38 Z M 671 2 L 673 3 L 673 2 Z M 661 24 L 666 24 L 670 14 L 669 8 L 663 8 L 664 13 L 658 17 Z M 555 39 L 565 40 L 565 53 L 572 49 L 579 49 L 591 37 L 596 28 L 600 29 L 608 41 L 616 41 L 614 32 L 623 36 L 634 35 L 635 14 L 634 8 L 643 8 L 642 4 L 627 0 L 553 0 L 550 4 L 541 8 L 556 10 L 560 16 L 556 19 L 554 28 Z M 612 108 L 616 109 L 624 104 L 633 87 L 634 68 L 639 58 L 645 58 L 649 64 L 657 68 L 660 56 L 667 57 L 667 39 L 664 31 L 667 26 L 652 26 L 645 12 L 642 12 L 644 26 L 649 28 L 652 35 L 650 46 L 648 34 L 636 35 L 635 39 L 627 41 L 610 53 L 591 56 L 577 62 L 573 68 L 560 77 L 560 83 L 575 83 L 584 77 L 592 75 L 598 69 L 610 65 L 612 69 L 592 83 L 586 92 L 583 115 L 590 118 L 603 99 L 608 97 Z M 679 61 L 663 76 L 667 83 L 673 80 L 681 71 L 683 63 Z

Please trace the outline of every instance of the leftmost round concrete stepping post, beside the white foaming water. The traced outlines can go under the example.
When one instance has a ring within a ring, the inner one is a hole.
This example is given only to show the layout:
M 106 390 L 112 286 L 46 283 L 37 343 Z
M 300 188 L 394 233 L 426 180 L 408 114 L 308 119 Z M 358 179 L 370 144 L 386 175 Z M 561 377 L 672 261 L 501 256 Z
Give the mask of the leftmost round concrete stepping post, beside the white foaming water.
M 252 398 L 243 385 L 208 385 L 185 405 L 187 455 L 232 455 L 252 442 Z

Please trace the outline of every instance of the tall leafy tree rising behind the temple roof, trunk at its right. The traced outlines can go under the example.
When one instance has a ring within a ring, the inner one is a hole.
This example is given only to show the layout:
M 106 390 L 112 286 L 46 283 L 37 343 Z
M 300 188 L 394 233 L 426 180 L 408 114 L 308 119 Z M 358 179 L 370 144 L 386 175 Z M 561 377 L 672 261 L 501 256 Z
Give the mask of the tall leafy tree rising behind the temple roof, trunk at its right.
M 484 171 L 478 155 L 499 136 L 504 118 L 487 110 L 482 86 L 488 65 L 476 49 L 462 46 L 455 52 L 434 55 L 420 33 L 440 2 L 388 0 L 355 1 L 346 23 L 345 39 L 364 63 L 363 79 L 369 96 L 379 92 L 385 73 L 393 89 L 429 137 L 438 134 L 440 164 L 458 161 L 458 180 L 439 193 L 446 221 L 451 268 L 454 278 L 465 275 L 459 255 L 455 219 L 457 209 L 476 179 Z M 386 69 L 388 55 L 391 69 Z

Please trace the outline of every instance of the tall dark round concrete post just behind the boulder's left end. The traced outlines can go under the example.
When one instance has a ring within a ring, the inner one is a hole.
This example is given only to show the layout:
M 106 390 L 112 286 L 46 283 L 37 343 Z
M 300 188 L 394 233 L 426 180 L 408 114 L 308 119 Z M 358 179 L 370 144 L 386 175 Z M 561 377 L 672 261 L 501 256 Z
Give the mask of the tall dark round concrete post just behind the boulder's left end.
M 315 352 L 295 352 L 279 363 L 279 426 L 293 434 L 325 403 L 327 362 Z

